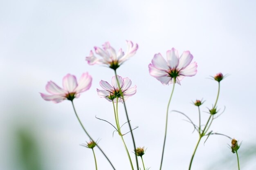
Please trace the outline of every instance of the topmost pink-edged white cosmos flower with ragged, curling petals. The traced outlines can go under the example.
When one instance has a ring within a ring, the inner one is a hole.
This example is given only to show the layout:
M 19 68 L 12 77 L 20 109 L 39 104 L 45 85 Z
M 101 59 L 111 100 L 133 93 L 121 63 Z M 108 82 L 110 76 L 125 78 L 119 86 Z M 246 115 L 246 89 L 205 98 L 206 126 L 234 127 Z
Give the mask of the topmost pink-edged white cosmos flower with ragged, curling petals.
M 94 46 L 95 53 L 100 55 L 102 58 L 95 57 L 94 53 L 90 51 L 90 55 L 86 57 L 85 60 L 88 62 L 89 65 L 105 64 L 110 68 L 116 70 L 126 60 L 135 55 L 138 49 L 138 44 L 134 45 L 131 41 L 126 41 L 126 43 L 126 53 L 124 53 L 122 49 L 119 49 L 119 51 L 116 53 L 115 49 L 110 46 L 109 42 L 105 42 L 105 44 L 102 45 L 102 49 Z

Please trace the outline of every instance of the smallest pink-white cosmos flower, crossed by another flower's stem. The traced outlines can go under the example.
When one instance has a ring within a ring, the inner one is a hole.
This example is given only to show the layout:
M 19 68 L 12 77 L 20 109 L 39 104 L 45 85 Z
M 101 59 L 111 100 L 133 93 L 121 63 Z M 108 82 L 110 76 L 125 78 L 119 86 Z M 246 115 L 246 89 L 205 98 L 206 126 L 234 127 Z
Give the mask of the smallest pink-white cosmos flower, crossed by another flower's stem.
M 117 79 L 120 84 L 120 89 L 117 84 Z M 99 97 L 104 97 L 108 101 L 112 102 L 123 102 L 123 99 L 121 99 L 121 93 L 123 93 L 124 96 L 124 101 L 132 95 L 136 93 L 136 85 L 131 87 L 132 81 L 126 77 L 122 78 L 121 76 L 117 75 L 117 79 L 115 76 L 112 77 L 112 86 L 103 80 L 99 82 L 99 85 L 104 89 L 104 90 L 99 90 L 97 88 L 97 92 Z M 118 98 L 118 101 L 117 101 Z

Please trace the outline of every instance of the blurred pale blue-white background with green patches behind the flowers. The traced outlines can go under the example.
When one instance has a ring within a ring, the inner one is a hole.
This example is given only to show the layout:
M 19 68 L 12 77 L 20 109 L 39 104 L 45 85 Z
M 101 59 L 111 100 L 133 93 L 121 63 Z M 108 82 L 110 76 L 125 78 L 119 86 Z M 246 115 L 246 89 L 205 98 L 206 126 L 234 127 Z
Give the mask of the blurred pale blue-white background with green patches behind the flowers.
M 126 50 L 125 40 L 139 44 L 135 56 L 117 73 L 137 85 L 127 101 L 137 146 L 147 148 L 144 163 L 159 168 L 164 139 L 164 121 L 171 86 L 163 86 L 148 73 L 155 53 L 175 47 L 181 55 L 189 50 L 198 63 L 198 73 L 185 77 L 175 87 L 170 110 L 186 113 L 198 124 L 197 108 L 204 99 L 215 102 L 218 83 L 209 75 L 229 76 L 221 82 L 218 108 L 223 113 L 210 130 L 243 141 L 238 153 L 240 168 L 256 169 L 256 1 L 253 0 L 8 0 L 0 1 L 0 169 L 1 170 L 94 170 L 92 151 L 79 144 L 89 141 L 80 127 L 70 101 L 44 101 L 39 92 L 52 80 L 61 86 L 67 73 L 89 72 L 92 87 L 74 100 L 81 121 L 106 152 L 117 170 L 130 169 L 117 133 L 100 117 L 114 123 L 112 104 L 99 98 L 101 79 L 111 81 L 114 72 L 89 66 L 85 57 L 93 46 L 109 41 Z M 126 122 L 119 105 L 121 122 Z M 193 126 L 177 113 L 170 113 L 163 170 L 189 166 L 198 140 Z M 120 122 L 120 124 L 121 124 Z M 128 131 L 124 126 L 123 132 Z M 130 134 L 124 136 L 131 157 Z M 211 136 L 196 152 L 192 169 L 236 170 L 236 155 L 222 136 Z M 95 149 L 99 170 L 111 170 Z M 140 159 L 139 163 L 141 165 Z M 142 165 L 141 165 L 142 167 Z

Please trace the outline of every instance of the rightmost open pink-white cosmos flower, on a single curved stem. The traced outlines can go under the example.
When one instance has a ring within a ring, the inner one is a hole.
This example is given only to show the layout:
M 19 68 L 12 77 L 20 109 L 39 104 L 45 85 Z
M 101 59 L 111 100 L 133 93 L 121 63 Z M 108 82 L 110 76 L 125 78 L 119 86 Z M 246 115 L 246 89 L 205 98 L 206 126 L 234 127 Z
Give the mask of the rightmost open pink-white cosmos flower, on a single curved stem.
M 193 55 L 184 51 L 179 57 L 178 51 L 174 48 L 166 52 L 167 61 L 160 53 L 155 54 L 152 63 L 148 65 L 149 73 L 162 84 L 174 82 L 180 84 L 185 76 L 194 76 L 197 72 L 197 63 L 192 62 Z

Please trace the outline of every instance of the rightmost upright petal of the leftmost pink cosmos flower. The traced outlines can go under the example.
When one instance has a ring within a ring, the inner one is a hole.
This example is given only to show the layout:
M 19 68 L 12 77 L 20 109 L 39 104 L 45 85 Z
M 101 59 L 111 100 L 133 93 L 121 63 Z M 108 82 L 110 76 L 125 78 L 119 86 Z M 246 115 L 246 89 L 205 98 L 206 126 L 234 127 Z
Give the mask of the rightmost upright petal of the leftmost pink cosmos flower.
M 83 73 L 78 81 L 78 85 L 76 87 L 76 93 L 81 93 L 87 91 L 92 85 L 92 76 L 88 73 Z

